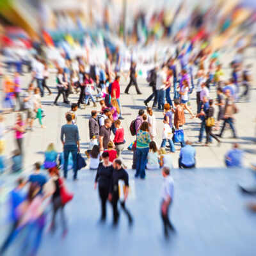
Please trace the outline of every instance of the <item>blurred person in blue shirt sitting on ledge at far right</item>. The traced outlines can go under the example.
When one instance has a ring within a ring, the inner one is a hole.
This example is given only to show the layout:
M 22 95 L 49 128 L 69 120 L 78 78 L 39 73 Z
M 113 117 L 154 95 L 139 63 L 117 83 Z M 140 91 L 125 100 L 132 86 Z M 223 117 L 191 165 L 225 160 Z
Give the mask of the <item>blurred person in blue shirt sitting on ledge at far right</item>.
M 244 152 L 239 149 L 239 145 L 237 143 L 234 143 L 232 149 L 228 150 L 225 155 L 225 163 L 227 167 L 242 167 L 243 159 Z

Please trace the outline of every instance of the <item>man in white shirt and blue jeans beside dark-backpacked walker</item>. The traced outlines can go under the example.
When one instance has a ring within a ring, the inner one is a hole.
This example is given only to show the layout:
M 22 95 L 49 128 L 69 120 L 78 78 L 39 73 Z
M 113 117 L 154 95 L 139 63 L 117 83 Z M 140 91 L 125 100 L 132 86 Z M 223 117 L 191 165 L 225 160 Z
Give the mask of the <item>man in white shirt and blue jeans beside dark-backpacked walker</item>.
M 163 66 L 159 72 L 157 72 L 156 77 L 156 90 L 157 90 L 157 104 L 158 109 L 164 109 L 164 100 L 166 96 L 165 86 L 167 84 L 167 68 Z

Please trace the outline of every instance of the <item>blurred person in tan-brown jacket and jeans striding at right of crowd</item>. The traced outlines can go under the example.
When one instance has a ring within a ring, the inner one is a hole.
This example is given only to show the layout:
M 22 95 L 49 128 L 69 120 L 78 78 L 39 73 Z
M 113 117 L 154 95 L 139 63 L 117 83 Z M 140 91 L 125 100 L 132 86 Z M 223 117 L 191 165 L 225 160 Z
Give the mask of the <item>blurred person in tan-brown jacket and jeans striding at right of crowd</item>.
M 234 103 L 234 99 L 232 99 L 232 97 L 231 97 L 230 90 L 226 90 L 225 95 L 226 95 L 227 99 L 226 99 L 226 104 L 225 104 L 225 115 L 223 116 L 224 123 L 223 123 L 223 127 L 221 128 L 220 134 L 216 134 L 216 136 L 221 138 L 223 131 L 225 130 L 226 124 L 228 123 L 233 132 L 232 138 L 236 139 L 237 136 L 236 136 L 236 130 L 234 128 L 234 113 L 237 112 L 237 109 L 236 109 L 236 105 Z

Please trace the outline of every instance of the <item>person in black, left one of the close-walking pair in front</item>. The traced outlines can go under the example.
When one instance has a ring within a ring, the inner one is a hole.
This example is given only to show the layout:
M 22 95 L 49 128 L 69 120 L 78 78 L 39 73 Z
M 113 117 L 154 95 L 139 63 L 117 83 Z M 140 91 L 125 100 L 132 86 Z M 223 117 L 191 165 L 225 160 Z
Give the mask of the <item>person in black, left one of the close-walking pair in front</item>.
M 106 220 L 106 203 L 108 200 L 108 195 L 109 195 L 109 187 L 110 187 L 110 182 L 111 182 L 111 177 L 113 175 L 113 165 L 109 161 L 109 153 L 103 152 L 102 153 L 102 159 L 103 162 L 99 164 L 97 174 L 95 177 L 95 184 L 94 184 L 94 189 L 97 188 L 99 189 L 99 196 L 101 200 L 101 221 Z

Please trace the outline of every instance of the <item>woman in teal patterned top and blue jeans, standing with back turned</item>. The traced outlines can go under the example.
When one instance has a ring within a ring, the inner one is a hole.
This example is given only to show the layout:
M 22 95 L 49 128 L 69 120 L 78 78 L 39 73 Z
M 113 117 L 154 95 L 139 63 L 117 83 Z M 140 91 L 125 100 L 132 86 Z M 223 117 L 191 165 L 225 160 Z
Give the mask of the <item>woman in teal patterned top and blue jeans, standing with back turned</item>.
M 141 179 L 145 179 L 145 168 L 147 164 L 147 156 L 150 143 L 148 122 L 143 122 L 137 134 L 136 140 L 136 152 L 137 152 L 137 165 L 135 177 L 140 176 Z

